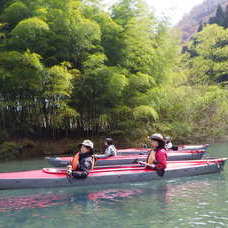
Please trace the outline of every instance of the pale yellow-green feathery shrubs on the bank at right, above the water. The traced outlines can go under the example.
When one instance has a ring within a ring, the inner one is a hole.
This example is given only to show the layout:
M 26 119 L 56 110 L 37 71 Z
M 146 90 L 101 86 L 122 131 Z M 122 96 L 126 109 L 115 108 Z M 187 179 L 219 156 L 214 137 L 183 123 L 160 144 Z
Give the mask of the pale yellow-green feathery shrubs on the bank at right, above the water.
M 155 95 L 163 122 L 155 123 L 158 131 L 183 142 L 186 139 L 190 142 L 199 138 L 208 140 L 225 134 L 228 121 L 226 90 L 218 86 L 182 86 L 175 90 L 166 87 L 154 91 Z

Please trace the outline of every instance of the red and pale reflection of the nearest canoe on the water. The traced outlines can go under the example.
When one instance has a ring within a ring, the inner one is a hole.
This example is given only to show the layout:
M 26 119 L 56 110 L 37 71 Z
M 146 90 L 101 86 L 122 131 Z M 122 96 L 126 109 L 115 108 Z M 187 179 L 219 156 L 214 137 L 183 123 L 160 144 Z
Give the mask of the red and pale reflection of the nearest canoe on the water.
M 85 207 L 88 204 L 94 207 L 106 207 L 109 203 L 122 203 L 132 199 L 132 202 L 140 204 L 141 198 L 150 198 L 153 202 L 160 203 L 164 208 L 169 208 L 173 201 L 181 199 L 181 202 L 200 199 L 211 188 L 218 185 L 222 177 L 211 179 L 190 179 L 183 181 L 161 181 L 143 184 L 131 184 L 127 186 L 105 187 L 101 190 L 65 188 L 61 190 L 51 189 L 48 192 L 25 194 L 19 196 L 1 196 L 0 213 L 20 211 L 24 209 L 61 207 L 62 205 L 78 205 Z M 199 205 L 204 206 L 204 205 Z M 79 212 L 81 213 L 81 212 Z

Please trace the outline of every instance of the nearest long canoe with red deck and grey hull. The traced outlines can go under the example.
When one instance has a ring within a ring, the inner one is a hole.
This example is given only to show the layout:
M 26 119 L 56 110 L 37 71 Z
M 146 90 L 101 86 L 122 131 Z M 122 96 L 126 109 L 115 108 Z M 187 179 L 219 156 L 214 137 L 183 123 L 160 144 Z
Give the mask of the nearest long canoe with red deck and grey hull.
M 0 189 L 79 187 L 203 175 L 220 172 L 226 160 L 226 158 L 222 158 L 171 161 L 168 162 L 167 169 L 162 177 L 158 175 L 156 170 L 147 169 L 139 165 L 97 168 L 92 170 L 85 179 L 67 178 L 65 169 L 57 168 L 0 173 Z

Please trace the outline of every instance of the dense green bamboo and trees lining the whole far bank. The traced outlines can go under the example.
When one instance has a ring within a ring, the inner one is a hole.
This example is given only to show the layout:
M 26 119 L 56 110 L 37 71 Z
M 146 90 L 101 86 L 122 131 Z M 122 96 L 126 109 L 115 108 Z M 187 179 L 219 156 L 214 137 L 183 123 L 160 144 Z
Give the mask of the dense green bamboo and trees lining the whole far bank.
M 228 32 L 208 25 L 183 53 L 141 0 L 0 5 L 0 137 L 178 139 L 224 134 Z

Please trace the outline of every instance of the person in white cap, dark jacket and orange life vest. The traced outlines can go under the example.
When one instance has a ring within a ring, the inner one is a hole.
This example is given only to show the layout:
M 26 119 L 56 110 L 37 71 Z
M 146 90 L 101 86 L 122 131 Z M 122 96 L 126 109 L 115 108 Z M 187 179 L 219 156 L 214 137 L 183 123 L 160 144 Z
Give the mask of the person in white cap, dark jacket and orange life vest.
M 71 164 L 67 166 L 67 173 L 76 178 L 86 178 L 94 165 L 94 146 L 90 140 L 84 140 L 79 146 L 80 152 L 74 155 Z

